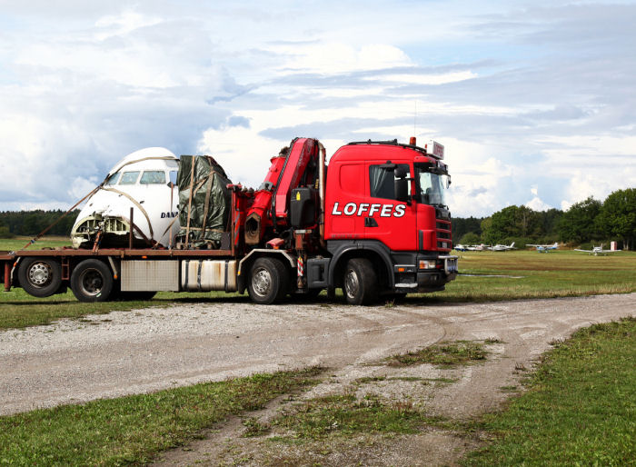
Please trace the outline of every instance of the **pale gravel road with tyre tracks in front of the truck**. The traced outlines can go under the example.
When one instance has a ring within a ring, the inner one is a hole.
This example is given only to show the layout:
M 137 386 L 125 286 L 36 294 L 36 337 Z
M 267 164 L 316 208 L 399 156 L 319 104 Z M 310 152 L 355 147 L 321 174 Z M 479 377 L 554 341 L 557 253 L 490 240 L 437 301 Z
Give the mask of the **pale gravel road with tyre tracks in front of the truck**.
M 418 396 L 432 413 L 463 418 L 498 407 L 507 397 L 499 388 L 517 384 L 515 367 L 530 367 L 553 339 L 630 314 L 636 293 L 373 308 L 203 303 L 94 315 L 0 333 L 0 414 L 314 364 L 332 368 L 335 378 L 313 393 L 332 392 L 386 374 L 376 364 L 385 356 L 439 341 L 498 338 L 488 363 L 454 370 L 457 383 Z M 440 374 L 430 365 L 416 371 Z

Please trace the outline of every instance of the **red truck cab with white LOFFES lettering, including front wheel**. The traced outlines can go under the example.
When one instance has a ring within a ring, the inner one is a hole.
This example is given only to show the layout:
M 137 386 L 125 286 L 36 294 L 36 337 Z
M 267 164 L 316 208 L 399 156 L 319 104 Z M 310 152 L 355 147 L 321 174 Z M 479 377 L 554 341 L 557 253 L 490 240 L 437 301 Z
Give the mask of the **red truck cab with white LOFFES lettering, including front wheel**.
M 450 177 L 442 163 L 443 146 L 433 144 L 434 152 L 428 153 L 413 140 L 368 141 L 333 154 L 324 238 L 332 255 L 331 286 L 343 287 L 350 302 L 366 300 L 353 297 L 367 280 L 363 275 L 375 276 L 366 287 L 369 300 L 378 293 L 440 291 L 455 278 L 457 258 L 448 254 L 451 214 L 444 203 Z M 354 267 L 361 262 L 362 269 Z

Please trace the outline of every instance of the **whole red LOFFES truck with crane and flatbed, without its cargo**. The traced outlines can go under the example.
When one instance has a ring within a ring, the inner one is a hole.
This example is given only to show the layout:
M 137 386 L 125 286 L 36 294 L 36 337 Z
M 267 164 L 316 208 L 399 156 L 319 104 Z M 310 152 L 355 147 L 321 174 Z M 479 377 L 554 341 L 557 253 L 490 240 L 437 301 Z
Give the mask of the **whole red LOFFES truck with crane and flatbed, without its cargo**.
M 430 152 L 429 152 L 430 151 Z M 68 286 L 82 302 L 157 291 L 248 291 L 255 303 L 342 288 L 351 304 L 442 291 L 457 274 L 443 146 L 346 144 L 325 164 L 323 144 L 296 138 L 261 187 L 229 184 L 231 214 L 219 249 L 130 243 L 0 252 L 5 290 L 37 297 Z

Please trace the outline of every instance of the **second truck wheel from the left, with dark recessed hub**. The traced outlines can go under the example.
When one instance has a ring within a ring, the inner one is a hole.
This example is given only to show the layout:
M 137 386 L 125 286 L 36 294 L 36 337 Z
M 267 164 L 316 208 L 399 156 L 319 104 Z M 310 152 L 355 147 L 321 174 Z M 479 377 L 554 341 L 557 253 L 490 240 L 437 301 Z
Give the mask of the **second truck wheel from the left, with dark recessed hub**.
M 105 302 L 113 291 L 113 273 L 99 260 L 84 260 L 71 274 L 71 290 L 80 302 Z

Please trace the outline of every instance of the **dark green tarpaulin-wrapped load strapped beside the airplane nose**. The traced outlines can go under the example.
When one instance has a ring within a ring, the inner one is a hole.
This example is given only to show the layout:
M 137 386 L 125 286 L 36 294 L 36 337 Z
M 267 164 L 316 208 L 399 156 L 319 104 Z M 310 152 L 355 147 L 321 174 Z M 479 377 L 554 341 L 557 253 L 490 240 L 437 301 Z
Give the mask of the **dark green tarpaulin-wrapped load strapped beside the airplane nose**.
M 232 182 L 210 156 L 182 155 L 180 159 L 176 183 L 181 230 L 176 242 L 188 243 L 190 248 L 218 249 L 221 234 L 229 230 L 232 194 L 227 185 Z

